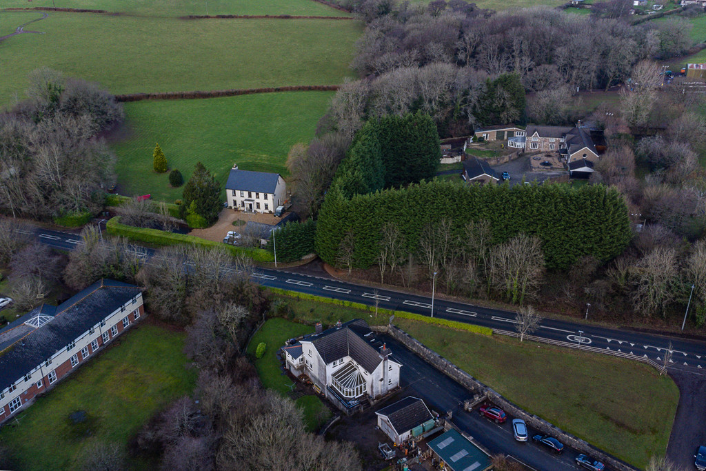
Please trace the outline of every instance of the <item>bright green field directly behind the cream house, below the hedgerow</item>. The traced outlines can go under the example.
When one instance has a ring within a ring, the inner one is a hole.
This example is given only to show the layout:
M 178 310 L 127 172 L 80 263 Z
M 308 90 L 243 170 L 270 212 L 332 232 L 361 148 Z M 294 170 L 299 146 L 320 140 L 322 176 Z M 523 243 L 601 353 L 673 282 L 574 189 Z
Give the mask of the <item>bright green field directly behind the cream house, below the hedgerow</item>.
M 152 170 L 160 143 L 170 169 L 188 181 L 201 161 L 222 185 L 233 164 L 244 170 L 287 174 L 287 153 L 313 138 L 333 92 L 284 92 L 125 104 L 124 129 L 110 139 L 118 161 L 118 189 L 174 201 L 184 186 L 169 186 L 169 172 Z

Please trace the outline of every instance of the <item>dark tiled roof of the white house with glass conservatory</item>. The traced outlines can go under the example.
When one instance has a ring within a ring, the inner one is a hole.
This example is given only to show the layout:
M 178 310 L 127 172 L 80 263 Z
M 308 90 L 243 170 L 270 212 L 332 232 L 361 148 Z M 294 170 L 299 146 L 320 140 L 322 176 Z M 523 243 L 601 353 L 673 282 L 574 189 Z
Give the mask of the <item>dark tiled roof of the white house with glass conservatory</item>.
M 349 356 L 371 373 L 383 361 L 379 353 L 382 343 L 361 319 L 345 322 L 318 335 L 308 335 L 302 341 L 312 342 L 325 364 Z

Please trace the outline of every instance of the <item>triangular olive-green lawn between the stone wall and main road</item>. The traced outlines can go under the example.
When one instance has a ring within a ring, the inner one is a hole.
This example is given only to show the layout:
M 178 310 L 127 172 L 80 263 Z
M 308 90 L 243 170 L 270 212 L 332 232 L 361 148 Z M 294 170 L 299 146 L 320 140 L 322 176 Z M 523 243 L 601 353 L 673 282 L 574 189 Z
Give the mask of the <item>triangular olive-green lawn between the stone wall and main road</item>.
M 395 323 L 528 412 L 640 469 L 666 452 L 679 390 L 648 366 L 406 319 Z

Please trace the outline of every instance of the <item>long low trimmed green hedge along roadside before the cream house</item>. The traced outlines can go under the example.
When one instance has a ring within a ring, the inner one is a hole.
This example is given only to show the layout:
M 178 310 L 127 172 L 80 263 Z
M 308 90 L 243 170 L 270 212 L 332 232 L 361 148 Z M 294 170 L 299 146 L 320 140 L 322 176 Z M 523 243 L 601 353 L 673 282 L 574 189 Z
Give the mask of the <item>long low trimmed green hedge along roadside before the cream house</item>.
M 213 242 L 201 237 L 194 237 L 188 234 L 174 234 L 174 232 L 160 231 L 159 229 L 145 229 L 143 227 L 132 227 L 121 224 L 120 216 L 113 217 L 106 223 L 108 234 L 126 237 L 133 241 L 147 242 L 155 245 L 193 245 L 203 247 L 225 247 L 233 255 L 244 255 L 252 258 L 253 261 L 268 263 L 274 261 L 270 252 L 265 249 L 252 249 L 250 247 L 237 247 L 220 242 Z

